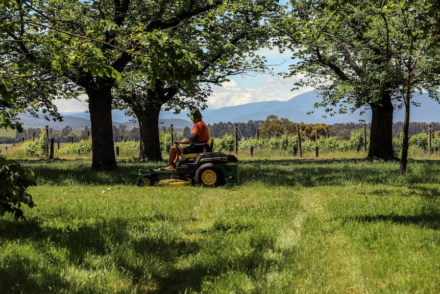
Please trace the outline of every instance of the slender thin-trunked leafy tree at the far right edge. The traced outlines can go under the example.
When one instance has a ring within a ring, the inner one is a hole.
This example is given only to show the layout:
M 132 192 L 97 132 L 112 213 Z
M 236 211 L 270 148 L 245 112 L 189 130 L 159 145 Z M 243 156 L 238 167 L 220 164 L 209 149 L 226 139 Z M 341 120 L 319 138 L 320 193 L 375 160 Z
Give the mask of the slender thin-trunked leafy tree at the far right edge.
M 396 48 L 394 59 L 399 64 L 403 78 L 398 92 L 405 107 L 400 162 L 402 173 L 407 166 L 409 113 L 413 92 L 415 89 L 424 90 L 431 98 L 439 100 L 440 50 L 436 33 L 440 10 L 433 3 L 429 4 L 426 1 L 403 2 L 399 5 L 390 2 L 387 7 L 388 22 L 398 22 L 392 36 Z

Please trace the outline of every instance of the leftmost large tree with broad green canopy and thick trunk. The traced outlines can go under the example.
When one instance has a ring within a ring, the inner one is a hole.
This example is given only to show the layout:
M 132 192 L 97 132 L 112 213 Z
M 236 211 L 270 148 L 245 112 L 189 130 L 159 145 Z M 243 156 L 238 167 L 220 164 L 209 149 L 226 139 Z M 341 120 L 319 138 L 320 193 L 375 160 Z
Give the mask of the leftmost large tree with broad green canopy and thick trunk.
M 137 63 L 149 71 L 151 85 L 164 78 L 183 83 L 199 63 L 162 30 L 212 10 L 223 1 L 182 5 L 175 0 L 167 1 L 166 7 L 161 3 L 46 0 L 3 8 L 7 25 L 2 32 L 10 43 L 17 44 L 14 50 L 9 50 L 10 44 L 4 47 L 8 58 L 15 56 L 17 60 L 8 62 L 6 71 L 15 68 L 20 72 L 35 65 L 38 73 L 50 74 L 57 81 L 64 79 L 65 85 L 79 87 L 87 94 L 93 131 L 92 170 L 117 167 L 112 140 L 112 89 L 127 64 Z

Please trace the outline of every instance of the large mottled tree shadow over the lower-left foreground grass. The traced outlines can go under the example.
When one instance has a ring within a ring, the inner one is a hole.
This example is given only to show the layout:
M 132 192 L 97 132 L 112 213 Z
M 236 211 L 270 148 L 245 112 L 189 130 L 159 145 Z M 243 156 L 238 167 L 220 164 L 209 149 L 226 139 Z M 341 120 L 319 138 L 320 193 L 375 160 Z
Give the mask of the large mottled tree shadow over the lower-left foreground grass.
M 103 290 L 102 285 L 93 284 L 99 283 L 94 280 L 90 281 L 90 285 L 87 284 L 89 281 L 82 282 L 88 287 L 87 291 L 76 289 L 78 277 L 66 279 L 62 276 L 64 269 L 71 266 L 91 271 L 112 267 L 119 271 L 120 276 L 131 280 L 140 291 L 145 284 L 155 285 L 148 290 L 149 293 L 183 293 L 187 289 L 201 291 L 206 278 L 221 276 L 231 267 L 246 273 L 252 272 L 255 267 L 263 266 L 269 270 L 276 266 L 274 261 L 267 260 L 264 255 L 267 247 L 262 245 L 273 244 L 275 237 L 272 235 L 253 236 L 250 253 L 234 256 L 229 251 L 221 254 L 225 249 L 218 244 L 222 242 L 211 240 L 211 244 L 216 246 L 202 254 L 206 258 L 194 261 L 194 256 L 200 253 L 206 240 L 223 239 L 229 233 L 214 227 L 212 234 L 207 231 L 199 241 L 188 241 L 182 238 L 181 232 L 167 231 L 173 225 L 161 225 L 162 222 L 159 216 L 157 219 L 136 219 L 135 223 L 110 219 L 67 227 L 65 222 L 58 227 L 56 224 L 43 227 L 36 219 L 28 222 L 0 219 L 0 241 L 12 241 L 11 246 L 16 242 L 14 249 L 20 251 L 19 254 L 13 250 L 3 255 L 0 280 L 8 283 L 0 282 L 0 292 L 43 293 L 52 289 L 52 292 L 93 293 L 94 286 L 100 286 L 96 292 Z M 32 247 L 32 252 L 21 252 L 25 247 Z M 192 262 L 186 261 L 187 266 L 181 266 L 188 257 Z M 100 263 L 97 264 L 97 261 Z M 11 289 L 11 285 L 17 286 Z

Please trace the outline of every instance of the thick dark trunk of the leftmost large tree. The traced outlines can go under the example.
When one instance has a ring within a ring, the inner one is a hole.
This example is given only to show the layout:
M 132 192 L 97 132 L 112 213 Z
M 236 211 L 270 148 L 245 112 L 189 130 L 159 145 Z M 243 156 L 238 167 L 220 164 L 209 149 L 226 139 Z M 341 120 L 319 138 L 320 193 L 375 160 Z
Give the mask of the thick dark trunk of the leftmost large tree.
M 89 97 L 92 131 L 92 170 L 115 170 L 117 165 L 112 134 L 111 87 L 88 87 L 86 93 Z

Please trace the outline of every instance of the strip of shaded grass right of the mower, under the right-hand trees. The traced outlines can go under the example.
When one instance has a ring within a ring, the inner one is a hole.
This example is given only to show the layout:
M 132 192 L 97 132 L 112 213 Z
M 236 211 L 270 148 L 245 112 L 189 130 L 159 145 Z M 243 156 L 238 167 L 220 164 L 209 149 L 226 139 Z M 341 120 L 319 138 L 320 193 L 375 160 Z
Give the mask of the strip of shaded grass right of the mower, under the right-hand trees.
M 240 182 L 266 186 L 344 186 L 346 184 L 407 185 L 437 183 L 440 161 L 414 162 L 417 170 L 401 174 L 399 163 L 365 160 L 260 160 L 239 164 Z M 422 166 L 422 167 L 420 167 Z

